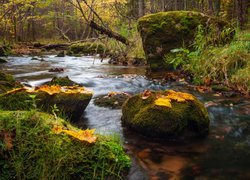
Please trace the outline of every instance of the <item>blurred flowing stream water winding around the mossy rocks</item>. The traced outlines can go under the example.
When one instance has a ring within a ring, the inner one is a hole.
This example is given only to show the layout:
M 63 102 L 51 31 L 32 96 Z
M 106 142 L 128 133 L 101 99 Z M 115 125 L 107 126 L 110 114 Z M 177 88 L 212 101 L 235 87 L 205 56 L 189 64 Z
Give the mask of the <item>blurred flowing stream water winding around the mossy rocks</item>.
M 94 90 L 94 98 L 110 91 L 135 94 L 145 89 L 176 89 L 190 92 L 205 103 L 211 120 L 209 136 L 203 140 L 171 142 L 150 140 L 123 128 L 121 110 L 100 108 L 91 101 L 77 125 L 121 136 L 133 160 L 127 179 L 250 179 L 249 99 L 197 93 L 189 90 L 185 83 L 148 79 L 145 67 L 112 66 L 98 57 L 48 56 L 43 59 L 9 57 L 9 62 L 0 69 L 32 86 L 55 76 L 69 76 Z M 51 68 L 65 71 L 49 72 Z

